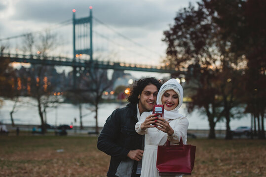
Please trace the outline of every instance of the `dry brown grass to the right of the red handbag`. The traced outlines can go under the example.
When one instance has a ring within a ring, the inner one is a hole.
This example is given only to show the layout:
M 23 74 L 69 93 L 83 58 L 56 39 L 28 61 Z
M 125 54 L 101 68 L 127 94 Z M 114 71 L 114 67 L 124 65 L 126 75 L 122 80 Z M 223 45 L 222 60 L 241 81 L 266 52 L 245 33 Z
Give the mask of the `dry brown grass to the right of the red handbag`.
M 194 140 L 195 177 L 266 177 L 265 140 Z

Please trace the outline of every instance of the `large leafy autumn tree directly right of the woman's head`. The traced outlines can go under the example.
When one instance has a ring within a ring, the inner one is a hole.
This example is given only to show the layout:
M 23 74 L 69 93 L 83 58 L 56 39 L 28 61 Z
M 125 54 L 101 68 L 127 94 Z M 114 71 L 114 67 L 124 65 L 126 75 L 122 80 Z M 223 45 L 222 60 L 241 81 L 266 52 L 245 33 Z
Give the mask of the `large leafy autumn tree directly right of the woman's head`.
M 229 121 L 230 110 L 238 105 L 233 94 L 241 77 L 241 58 L 229 49 L 227 38 L 220 34 L 214 23 L 212 9 L 198 2 L 198 8 L 184 8 L 177 13 L 175 24 L 164 31 L 168 44 L 166 62 L 174 64 L 180 75 L 186 76 L 194 95 L 189 105 L 203 107 L 209 120 L 209 138 L 215 138 L 215 125 L 222 118 L 227 121 L 227 139 L 231 139 Z M 240 61 L 240 62 L 239 62 Z M 231 75 L 233 74 L 233 75 Z

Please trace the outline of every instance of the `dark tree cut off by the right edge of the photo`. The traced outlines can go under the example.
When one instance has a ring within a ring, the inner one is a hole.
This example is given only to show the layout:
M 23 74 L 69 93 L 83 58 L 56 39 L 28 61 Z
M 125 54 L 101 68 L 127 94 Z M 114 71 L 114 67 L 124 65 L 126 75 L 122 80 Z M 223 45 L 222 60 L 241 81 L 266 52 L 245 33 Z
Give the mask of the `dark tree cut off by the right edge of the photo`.
M 266 112 L 266 1 L 247 0 L 245 6 L 248 41 L 244 50 L 248 59 L 246 89 L 252 93 L 248 102 L 254 105 L 253 115 L 258 121 L 259 138 L 266 139 L 264 119 Z

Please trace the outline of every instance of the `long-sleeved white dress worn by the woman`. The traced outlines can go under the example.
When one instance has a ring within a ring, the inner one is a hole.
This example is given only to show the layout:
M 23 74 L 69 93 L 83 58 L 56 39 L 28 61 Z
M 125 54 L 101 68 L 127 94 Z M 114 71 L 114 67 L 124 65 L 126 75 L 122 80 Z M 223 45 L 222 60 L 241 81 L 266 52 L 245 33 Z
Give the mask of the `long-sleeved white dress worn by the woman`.
M 141 130 L 141 123 L 144 122 L 145 118 L 151 114 L 152 112 L 144 112 L 141 115 L 139 122 L 135 125 L 135 130 L 138 134 L 145 134 L 145 148 L 142 158 L 141 177 L 160 177 L 156 168 L 158 145 L 166 145 L 167 139 L 171 142 L 171 145 L 176 145 L 180 141 L 180 136 L 182 136 L 183 143 L 187 144 L 189 120 L 186 117 L 180 115 L 180 117 L 176 119 L 165 118 L 169 122 L 169 125 L 174 129 L 174 134 L 172 136 L 168 136 L 167 133 L 164 133 L 155 127 Z

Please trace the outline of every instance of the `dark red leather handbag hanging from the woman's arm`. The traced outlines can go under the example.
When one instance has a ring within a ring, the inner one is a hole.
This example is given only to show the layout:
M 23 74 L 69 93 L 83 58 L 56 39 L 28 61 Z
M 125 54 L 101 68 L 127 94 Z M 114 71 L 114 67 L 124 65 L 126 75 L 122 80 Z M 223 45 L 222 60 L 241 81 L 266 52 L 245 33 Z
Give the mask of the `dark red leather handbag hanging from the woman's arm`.
M 182 137 L 179 145 L 158 146 L 156 168 L 160 176 L 191 175 L 194 167 L 196 147 L 184 145 Z

